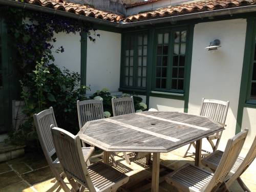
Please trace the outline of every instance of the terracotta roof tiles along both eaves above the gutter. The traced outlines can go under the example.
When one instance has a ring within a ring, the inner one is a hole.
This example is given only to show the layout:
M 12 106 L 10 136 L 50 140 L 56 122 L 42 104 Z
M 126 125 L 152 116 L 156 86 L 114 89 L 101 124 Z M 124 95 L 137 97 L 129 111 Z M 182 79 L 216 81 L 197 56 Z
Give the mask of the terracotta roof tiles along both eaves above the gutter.
M 13 0 L 20 2 L 21 0 Z M 160 0 L 150 0 L 147 2 L 137 3 L 129 5 L 138 6 L 145 3 L 154 3 Z M 28 4 L 34 4 L 37 6 L 48 7 L 55 10 L 75 13 L 84 16 L 90 16 L 98 19 L 109 20 L 110 22 L 124 21 L 126 23 L 138 22 L 140 20 L 154 19 L 160 17 L 189 14 L 201 11 L 211 11 L 217 9 L 226 9 L 231 7 L 240 7 L 246 5 L 255 5 L 256 0 L 208 0 L 208 1 L 193 1 L 181 4 L 179 6 L 160 8 L 157 10 L 138 13 L 136 15 L 124 17 L 120 14 L 97 10 L 89 5 L 80 5 L 67 3 L 63 0 L 25 0 Z

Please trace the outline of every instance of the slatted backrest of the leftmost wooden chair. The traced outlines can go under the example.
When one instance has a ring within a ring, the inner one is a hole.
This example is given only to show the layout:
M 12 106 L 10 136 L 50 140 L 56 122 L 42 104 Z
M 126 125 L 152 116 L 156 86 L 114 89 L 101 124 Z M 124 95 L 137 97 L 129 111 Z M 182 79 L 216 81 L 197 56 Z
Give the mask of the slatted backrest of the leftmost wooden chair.
M 57 126 L 53 108 L 34 114 L 34 123 L 42 151 L 44 152 L 48 163 L 52 163 L 51 156 L 55 154 L 55 148 L 51 133 L 51 124 Z

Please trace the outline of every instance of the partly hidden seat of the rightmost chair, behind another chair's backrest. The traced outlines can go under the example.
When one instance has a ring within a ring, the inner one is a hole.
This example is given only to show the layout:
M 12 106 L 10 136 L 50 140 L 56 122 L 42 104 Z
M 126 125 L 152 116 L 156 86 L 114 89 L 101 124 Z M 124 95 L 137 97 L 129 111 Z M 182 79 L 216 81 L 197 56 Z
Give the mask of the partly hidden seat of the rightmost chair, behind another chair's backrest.
M 218 167 L 221 158 L 223 155 L 223 151 L 217 150 L 214 153 L 208 155 L 207 157 L 205 157 L 204 159 L 202 159 L 202 164 L 213 169 L 216 170 L 216 168 Z M 234 163 L 232 169 L 231 169 L 231 173 L 233 173 L 233 170 L 236 169 L 244 160 L 244 158 L 242 157 L 238 157 L 237 161 Z

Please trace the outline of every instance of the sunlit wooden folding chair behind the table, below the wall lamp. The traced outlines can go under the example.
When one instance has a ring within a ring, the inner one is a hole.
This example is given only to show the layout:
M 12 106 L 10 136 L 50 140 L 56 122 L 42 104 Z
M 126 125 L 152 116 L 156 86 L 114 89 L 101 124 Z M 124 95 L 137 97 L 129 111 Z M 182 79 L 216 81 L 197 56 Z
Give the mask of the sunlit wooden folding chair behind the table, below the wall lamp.
M 202 99 L 200 114 L 204 117 L 209 117 L 212 120 L 215 120 L 216 122 L 225 125 L 226 118 L 227 118 L 227 111 L 228 111 L 229 101 L 221 101 L 221 100 L 214 100 L 214 99 Z M 221 139 L 222 131 L 218 132 L 214 135 L 210 135 L 207 138 L 207 141 L 210 143 L 212 152 L 215 152 L 219 146 L 220 139 Z M 216 143 L 214 144 L 213 140 L 216 140 Z M 191 147 L 191 145 L 196 148 L 196 143 L 192 142 L 189 144 L 186 153 L 183 157 L 188 157 L 188 151 Z M 202 150 L 203 152 L 206 152 L 209 154 L 209 152 Z

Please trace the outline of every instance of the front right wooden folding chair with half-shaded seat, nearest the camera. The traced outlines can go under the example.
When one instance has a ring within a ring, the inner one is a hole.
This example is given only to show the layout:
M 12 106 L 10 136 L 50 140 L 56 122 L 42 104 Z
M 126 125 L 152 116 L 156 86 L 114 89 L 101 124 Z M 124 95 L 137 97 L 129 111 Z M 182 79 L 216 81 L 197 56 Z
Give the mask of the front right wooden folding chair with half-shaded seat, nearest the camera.
M 174 185 L 179 191 L 220 191 L 228 190 L 225 179 L 236 162 L 243 147 L 248 130 L 242 131 L 229 139 L 214 174 L 191 164 L 185 164 L 165 177 L 167 183 Z

